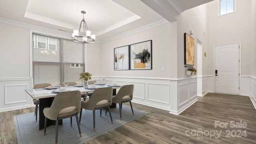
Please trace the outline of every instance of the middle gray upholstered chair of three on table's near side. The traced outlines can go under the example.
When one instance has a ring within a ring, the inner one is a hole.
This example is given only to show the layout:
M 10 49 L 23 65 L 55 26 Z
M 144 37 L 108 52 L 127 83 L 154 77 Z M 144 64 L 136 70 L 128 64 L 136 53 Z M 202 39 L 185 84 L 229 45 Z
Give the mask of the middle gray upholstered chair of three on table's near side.
M 94 90 L 91 98 L 88 101 L 81 102 L 79 122 L 81 122 L 82 108 L 86 110 L 92 110 L 93 111 L 93 131 L 95 132 L 95 110 L 100 110 L 101 112 L 102 108 L 106 108 L 109 111 L 110 119 L 113 124 L 112 115 L 110 111 L 110 106 L 112 104 L 112 94 L 113 94 L 113 88 L 111 87 L 98 88 Z

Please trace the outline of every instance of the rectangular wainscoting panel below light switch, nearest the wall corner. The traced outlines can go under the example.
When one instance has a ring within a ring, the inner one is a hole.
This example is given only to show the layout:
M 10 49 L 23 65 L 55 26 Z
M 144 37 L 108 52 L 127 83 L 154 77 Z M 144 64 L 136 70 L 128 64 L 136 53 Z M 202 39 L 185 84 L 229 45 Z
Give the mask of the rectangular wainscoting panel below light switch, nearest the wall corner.
M 170 84 L 148 83 L 148 100 L 170 104 Z

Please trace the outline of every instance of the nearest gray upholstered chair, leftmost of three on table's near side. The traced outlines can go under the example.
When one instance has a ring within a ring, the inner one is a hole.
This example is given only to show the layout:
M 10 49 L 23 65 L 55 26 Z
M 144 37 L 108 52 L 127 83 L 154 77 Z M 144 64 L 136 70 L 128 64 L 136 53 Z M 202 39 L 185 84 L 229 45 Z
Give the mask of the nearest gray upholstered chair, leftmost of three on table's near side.
M 46 134 L 47 119 L 56 120 L 55 128 L 55 143 L 58 143 L 58 123 L 59 120 L 64 118 L 70 118 L 72 126 L 72 116 L 76 116 L 76 122 L 78 125 L 78 131 L 81 135 L 80 125 L 78 122 L 77 114 L 80 113 L 81 109 L 81 92 L 79 90 L 71 92 L 60 92 L 58 93 L 50 108 L 44 108 L 44 135 Z

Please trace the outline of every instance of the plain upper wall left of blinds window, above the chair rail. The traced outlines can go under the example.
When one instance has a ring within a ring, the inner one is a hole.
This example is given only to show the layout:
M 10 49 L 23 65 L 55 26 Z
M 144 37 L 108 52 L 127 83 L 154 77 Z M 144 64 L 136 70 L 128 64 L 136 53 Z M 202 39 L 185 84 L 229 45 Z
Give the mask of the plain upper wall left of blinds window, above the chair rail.
M 0 37 L 0 78 L 29 77 L 29 29 L 0 22 Z

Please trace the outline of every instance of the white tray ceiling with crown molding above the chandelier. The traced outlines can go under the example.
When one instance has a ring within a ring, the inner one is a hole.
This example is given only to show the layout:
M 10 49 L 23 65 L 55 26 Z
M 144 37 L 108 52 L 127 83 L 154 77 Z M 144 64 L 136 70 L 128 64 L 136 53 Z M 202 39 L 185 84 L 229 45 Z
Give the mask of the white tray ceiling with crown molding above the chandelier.
M 175 21 L 185 10 L 212 0 L 1 0 L 0 18 L 71 34 L 84 19 L 96 40 L 161 20 Z

